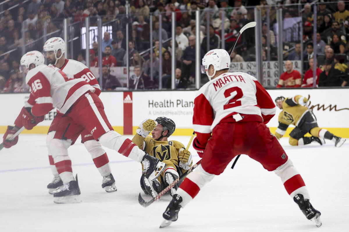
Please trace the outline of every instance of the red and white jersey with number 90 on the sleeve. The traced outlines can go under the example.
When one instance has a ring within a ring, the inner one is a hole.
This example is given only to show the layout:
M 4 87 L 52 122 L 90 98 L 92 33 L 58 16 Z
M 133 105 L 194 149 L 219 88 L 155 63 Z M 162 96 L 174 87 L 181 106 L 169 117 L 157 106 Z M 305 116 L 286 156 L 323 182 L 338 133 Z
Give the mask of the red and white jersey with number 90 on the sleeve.
M 82 78 L 84 81 L 95 88 L 95 94 L 101 94 L 101 87 L 98 84 L 97 78 L 93 75 L 91 70 L 79 61 L 74 59 L 65 59 L 64 65 L 60 68 L 68 77 L 73 76 L 75 79 Z

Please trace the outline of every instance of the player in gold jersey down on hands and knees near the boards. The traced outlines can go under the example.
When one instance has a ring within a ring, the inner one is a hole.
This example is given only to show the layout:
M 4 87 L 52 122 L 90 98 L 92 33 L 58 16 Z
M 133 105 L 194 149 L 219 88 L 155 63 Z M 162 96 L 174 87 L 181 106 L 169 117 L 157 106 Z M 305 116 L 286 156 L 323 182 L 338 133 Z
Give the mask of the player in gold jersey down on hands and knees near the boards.
M 282 109 L 279 114 L 279 126 L 276 129 L 275 136 L 280 139 L 286 132 L 289 125 L 294 125 L 290 133 L 289 143 L 292 146 L 309 144 L 313 141 L 322 145 L 324 140 L 330 139 L 334 141 L 336 147 L 340 147 L 346 139 L 337 137 L 328 130 L 319 128 L 315 115 L 305 106 L 307 98 L 296 95 L 292 98 L 284 98 L 283 96 L 275 99 L 277 107 Z M 311 137 L 305 137 L 306 133 L 310 133 Z M 320 139 L 321 138 L 321 139 Z

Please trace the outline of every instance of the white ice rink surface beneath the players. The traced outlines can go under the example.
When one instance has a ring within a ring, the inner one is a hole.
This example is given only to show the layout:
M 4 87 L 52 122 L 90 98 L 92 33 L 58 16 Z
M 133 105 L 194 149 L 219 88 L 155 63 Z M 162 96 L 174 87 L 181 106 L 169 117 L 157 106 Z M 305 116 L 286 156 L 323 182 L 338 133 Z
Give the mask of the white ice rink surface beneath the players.
M 187 144 L 190 137 L 170 138 Z M 180 210 L 178 221 L 163 229 L 159 225 L 171 197 L 162 197 L 148 208 L 141 207 L 141 165 L 108 149 L 117 192 L 102 189 L 102 177 L 90 154 L 77 143 L 69 148 L 69 154 L 73 172 L 78 174 L 82 203 L 53 203 L 46 189 L 52 173 L 45 141 L 45 135 L 24 134 L 17 145 L 0 151 L 1 232 L 349 230 L 348 140 L 336 148 L 332 141 L 323 146 L 291 147 L 288 138 L 281 139 L 307 185 L 312 205 L 321 212 L 319 228 L 305 218 L 278 176 L 242 155 L 233 170 L 230 163 L 223 174 Z M 190 151 L 193 161 L 198 161 L 192 147 Z

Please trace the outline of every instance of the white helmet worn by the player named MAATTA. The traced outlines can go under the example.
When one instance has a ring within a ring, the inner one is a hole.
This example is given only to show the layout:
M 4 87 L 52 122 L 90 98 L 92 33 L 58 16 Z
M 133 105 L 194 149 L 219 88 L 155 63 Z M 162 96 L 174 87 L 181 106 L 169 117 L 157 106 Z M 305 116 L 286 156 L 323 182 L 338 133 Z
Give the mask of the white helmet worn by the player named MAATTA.
M 210 65 L 213 65 L 213 75 L 208 75 L 207 70 Z M 202 58 L 201 73 L 206 73 L 209 80 L 216 74 L 216 71 L 229 69 L 230 56 L 224 49 L 209 50 Z

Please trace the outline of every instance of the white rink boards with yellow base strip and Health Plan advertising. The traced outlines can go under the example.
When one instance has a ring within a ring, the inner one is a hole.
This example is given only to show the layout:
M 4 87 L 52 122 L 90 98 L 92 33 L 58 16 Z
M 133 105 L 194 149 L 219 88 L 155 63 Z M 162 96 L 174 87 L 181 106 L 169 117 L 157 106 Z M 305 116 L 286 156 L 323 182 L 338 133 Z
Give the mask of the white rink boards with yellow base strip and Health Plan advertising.
M 310 107 L 317 117 L 319 127 L 327 128 L 341 137 L 349 137 L 349 90 L 348 89 L 271 89 L 267 90 L 275 99 L 277 96 L 309 97 Z M 176 123 L 174 135 L 192 133 L 192 116 L 196 91 L 134 91 L 102 92 L 100 95 L 106 115 L 114 130 L 120 134 L 134 134 L 139 123 L 146 118 L 159 116 L 171 118 Z M 0 133 L 5 133 L 7 125 L 13 125 L 15 118 L 29 94 L 0 94 L 3 113 L 0 115 Z M 274 133 L 278 126 L 277 115 L 267 124 Z M 28 134 L 46 134 L 55 115 L 52 110 L 45 120 Z M 285 136 L 293 129 L 290 126 Z

